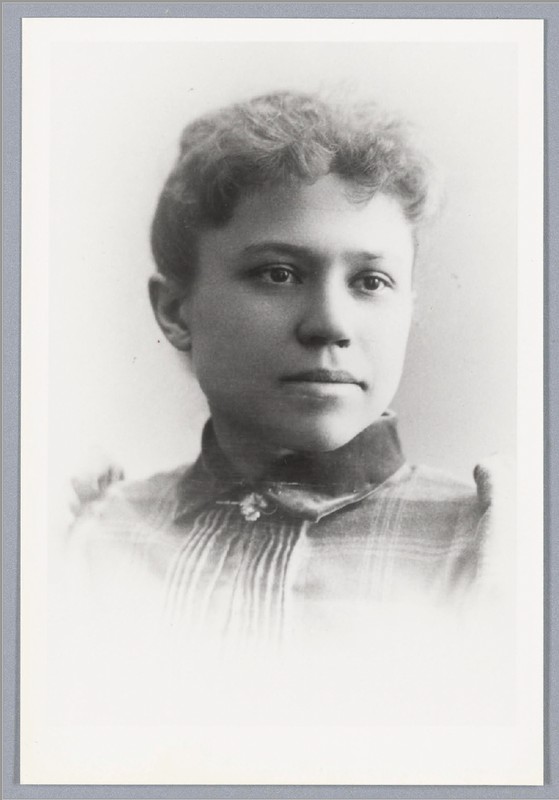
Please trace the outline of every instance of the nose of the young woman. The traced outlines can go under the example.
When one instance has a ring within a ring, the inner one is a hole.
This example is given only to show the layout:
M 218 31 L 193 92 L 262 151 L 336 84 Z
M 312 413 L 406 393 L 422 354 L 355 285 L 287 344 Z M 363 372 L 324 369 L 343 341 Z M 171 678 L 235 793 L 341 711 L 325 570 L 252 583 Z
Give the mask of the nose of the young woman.
M 297 339 L 305 347 L 349 347 L 352 311 L 344 289 L 337 285 L 313 288 L 297 325 Z

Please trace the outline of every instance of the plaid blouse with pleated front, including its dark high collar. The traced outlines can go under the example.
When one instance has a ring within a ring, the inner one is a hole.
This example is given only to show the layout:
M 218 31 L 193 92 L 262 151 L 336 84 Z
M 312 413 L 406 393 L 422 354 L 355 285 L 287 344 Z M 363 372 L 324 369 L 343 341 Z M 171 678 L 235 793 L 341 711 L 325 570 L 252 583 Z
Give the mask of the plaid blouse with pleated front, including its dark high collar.
M 475 477 L 477 492 L 406 463 L 387 413 L 345 447 L 286 456 L 249 482 L 210 422 L 192 467 L 89 498 L 70 544 L 109 615 L 120 590 L 123 613 L 143 605 L 177 636 L 275 644 L 343 628 L 350 606 L 463 603 L 488 530 L 487 475 Z

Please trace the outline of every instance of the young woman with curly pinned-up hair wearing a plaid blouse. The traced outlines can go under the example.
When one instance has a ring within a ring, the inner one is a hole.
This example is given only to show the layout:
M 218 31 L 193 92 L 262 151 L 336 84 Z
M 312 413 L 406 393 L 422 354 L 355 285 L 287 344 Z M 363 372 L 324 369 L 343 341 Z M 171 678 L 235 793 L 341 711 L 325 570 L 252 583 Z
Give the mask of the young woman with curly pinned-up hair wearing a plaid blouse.
M 114 484 L 72 531 L 127 619 L 143 603 L 189 640 L 275 646 L 472 602 L 488 476 L 407 463 L 389 410 L 432 208 L 428 164 L 374 107 L 278 92 L 185 129 L 150 297 L 211 419 L 194 465 Z

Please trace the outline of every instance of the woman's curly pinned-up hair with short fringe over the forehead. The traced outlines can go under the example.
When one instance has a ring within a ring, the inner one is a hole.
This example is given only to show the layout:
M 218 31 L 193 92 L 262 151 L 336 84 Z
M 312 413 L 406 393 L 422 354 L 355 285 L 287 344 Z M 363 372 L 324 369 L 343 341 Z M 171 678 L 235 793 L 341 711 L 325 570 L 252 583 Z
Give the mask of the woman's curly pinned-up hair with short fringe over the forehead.
M 356 202 L 398 199 L 414 230 L 430 214 L 431 168 L 404 124 L 375 104 L 334 105 L 274 92 L 207 114 L 182 134 L 151 229 L 158 270 L 186 282 L 202 230 L 225 225 L 239 199 L 263 186 L 344 178 Z

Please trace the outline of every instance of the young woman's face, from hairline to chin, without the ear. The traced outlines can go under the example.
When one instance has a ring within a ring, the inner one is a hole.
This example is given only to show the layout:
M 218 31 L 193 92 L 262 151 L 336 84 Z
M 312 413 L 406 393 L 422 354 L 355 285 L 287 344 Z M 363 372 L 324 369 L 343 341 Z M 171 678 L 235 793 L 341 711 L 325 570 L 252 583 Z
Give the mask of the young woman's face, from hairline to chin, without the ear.
M 378 194 L 328 175 L 241 200 L 200 237 L 181 318 L 218 430 L 326 451 L 392 400 L 412 314 L 412 229 Z

